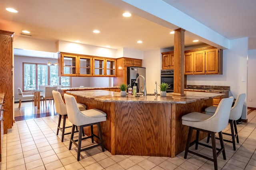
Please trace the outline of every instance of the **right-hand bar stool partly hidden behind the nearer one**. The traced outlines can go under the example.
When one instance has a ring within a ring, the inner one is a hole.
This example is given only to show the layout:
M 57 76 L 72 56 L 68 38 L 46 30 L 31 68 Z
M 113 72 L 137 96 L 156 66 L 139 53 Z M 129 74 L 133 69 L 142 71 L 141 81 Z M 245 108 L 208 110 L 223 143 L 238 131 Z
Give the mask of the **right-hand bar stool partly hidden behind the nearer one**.
M 226 139 L 224 139 L 224 141 L 232 143 L 234 150 L 236 150 L 236 142 L 239 143 L 238 131 L 236 128 L 236 121 L 240 119 L 242 115 L 242 109 L 243 109 L 245 97 L 246 97 L 246 94 L 244 93 L 238 95 L 234 106 L 230 110 L 230 116 L 229 116 L 228 122 L 230 123 L 231 134 L 223 132 L 224 135 L 230 135 L 232 137 L 232 141 L 226 140 Z M 217 109 L 216 106 L 210 106 L 204 109 L 204 111 L 207 115 L 214 115 L 216 109 Z M 209 139 L 210 139 L 210 134 L 208 134 L 207 143 L 209 142 Z

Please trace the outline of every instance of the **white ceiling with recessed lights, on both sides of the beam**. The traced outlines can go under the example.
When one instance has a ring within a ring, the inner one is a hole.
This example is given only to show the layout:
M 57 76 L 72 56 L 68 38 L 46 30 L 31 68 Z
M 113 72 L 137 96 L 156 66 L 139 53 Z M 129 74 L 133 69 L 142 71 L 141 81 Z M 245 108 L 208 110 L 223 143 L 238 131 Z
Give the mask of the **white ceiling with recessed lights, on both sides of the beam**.
M 248 49 L 256 49 L 255 0 L 164 1 L 228 39 L 249 37 Z M 19 12 L 7 12 L 8 7 Z M 110 45 L 113 49 L 146 51 L 173 47 L 174 38 L 169 32 L 177 29 L 175 25 L 167 28 L 135 14 L 124 18 L 124 12 L 126 6 L 121 9 L 104 0 L 0 0 L 0 29 L 14 31 L 15 38 L 25 36 L 54 42 L 80 40 L 83 44 Z M 24 29 L 32 36 L 21 35 Z M 94 29 L 100 33 L 92 33 Z M 193 43 L 194 38 L 185 32 L 185 45 L 203 43 Z M 138 40 L 143 43 L 136 43 Z

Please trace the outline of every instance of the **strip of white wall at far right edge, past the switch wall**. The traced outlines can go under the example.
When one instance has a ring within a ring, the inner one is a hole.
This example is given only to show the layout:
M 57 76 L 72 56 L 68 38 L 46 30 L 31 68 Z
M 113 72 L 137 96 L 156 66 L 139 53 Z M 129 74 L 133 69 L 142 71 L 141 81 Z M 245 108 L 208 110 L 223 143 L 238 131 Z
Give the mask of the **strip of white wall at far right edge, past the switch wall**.
M 256 50 L 248 51 L 247 107 L 256 108 Z M 250 99 L 252 101 L 250 101 Z

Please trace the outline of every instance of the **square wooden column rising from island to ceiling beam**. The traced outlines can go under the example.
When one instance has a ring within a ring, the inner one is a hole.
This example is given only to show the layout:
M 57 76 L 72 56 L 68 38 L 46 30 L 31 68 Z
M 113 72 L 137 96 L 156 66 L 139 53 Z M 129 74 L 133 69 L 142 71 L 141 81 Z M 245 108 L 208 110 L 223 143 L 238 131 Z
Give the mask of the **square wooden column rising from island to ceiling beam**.
M 184 94 L 184 32 L 185 29 L 174 30 L 174 93 L 172 96 L 182 97 Z

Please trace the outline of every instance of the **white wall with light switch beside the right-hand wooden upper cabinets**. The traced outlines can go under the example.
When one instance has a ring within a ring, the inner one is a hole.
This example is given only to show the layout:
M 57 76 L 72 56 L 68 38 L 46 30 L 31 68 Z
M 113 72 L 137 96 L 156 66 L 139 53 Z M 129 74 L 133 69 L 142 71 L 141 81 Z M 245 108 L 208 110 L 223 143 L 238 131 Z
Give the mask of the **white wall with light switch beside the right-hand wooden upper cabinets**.
M 230 49 L 223 51 L 222 75 L 189 75 L 188 85 L 212 85 L 230 86 L 229 96 L 236 98 L 240 93 L 247 94 L 247 55 L 248 38 L 230 40 Z M 246 81 L 242 82 L 241 78 Z M 246 100 L 242 113 L 242 119 L 247 118 Z

